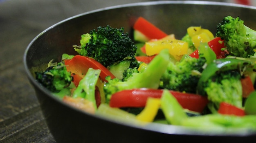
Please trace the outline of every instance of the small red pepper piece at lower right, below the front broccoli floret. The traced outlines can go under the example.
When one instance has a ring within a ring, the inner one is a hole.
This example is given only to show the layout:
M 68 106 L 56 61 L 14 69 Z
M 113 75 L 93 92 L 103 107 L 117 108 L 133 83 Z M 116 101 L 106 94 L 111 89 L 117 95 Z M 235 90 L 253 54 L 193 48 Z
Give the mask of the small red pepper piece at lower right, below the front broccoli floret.
M 224 115 L 244 116 L 245 110 L 238 108 L 236 106 L 233 106 L 229 103 L 221 102 L 218 113 L 224 114 Z

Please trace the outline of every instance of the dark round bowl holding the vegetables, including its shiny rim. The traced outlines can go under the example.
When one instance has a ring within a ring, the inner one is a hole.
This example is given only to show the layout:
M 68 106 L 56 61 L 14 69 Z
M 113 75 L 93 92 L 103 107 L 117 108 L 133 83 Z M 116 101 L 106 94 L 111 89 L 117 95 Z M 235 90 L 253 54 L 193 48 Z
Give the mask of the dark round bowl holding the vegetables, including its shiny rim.
M 77 110 L 54 97 L 35 81 L 34 72 L 43 71 L 51 59 L 61 59 L 63 53 L 76 54 L 81 35 L 98 26 L 120 28 L 129 33 L 135 20 L 142 16 L 166 33 L 181 38 L 189 26 L 202 26 L 213 33 L 223 17 L 239 16 L 245 25 L 256 29 L 256 8 L 237 4 L 202 1 L 158 1 L 126 4 L 98 9 L 63 20 L 31 41 L 24 55 L 29 81 L 34 86 L 50 132 L 58 143 L 164 143 L 252 142 L 256 133 L 250 130 L 215 132 L 212 129 L 183 128 L 173 125 L 135 125 L 115 121 Z

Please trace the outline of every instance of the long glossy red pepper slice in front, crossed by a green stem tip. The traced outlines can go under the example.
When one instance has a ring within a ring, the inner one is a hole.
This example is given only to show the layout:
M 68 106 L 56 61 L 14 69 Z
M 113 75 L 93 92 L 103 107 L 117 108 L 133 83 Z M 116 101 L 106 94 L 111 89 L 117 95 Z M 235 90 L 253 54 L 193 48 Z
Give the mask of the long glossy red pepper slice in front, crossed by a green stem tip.
M 195 112 L 202 112 L 208 103 L 206 96 L 200 96 L 191 93 L 183 93 L 170 90 L 171 94 L 177 99 L 184 109 Z M 132 89 L 122 90 L 112 95 L 110 107 L 145 107 L 148 97 L 161 98 L 163 90 L 161 89 Z

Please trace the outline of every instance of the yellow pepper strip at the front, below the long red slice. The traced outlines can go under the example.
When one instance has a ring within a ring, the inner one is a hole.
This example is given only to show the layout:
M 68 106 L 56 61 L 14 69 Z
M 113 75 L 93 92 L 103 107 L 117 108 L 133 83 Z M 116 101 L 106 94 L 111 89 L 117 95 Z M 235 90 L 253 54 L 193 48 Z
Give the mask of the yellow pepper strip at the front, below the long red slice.
M 152 122 L 157 115 L 159 107 L 160 99 L 149 97 L 145 108 L 136 116 L 136 119 L 144 122 Z

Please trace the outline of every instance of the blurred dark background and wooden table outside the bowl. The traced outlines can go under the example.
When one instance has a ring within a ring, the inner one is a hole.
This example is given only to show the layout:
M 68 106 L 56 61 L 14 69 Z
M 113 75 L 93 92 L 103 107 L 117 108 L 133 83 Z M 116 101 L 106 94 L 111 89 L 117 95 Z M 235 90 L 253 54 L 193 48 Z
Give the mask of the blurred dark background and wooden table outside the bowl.
M 71 16 L 153 0 L 0 0 L 0 143 L 55 143 L 25 73 L 29 42 Z M 256 5 L 256 0 L 209 0 Z

